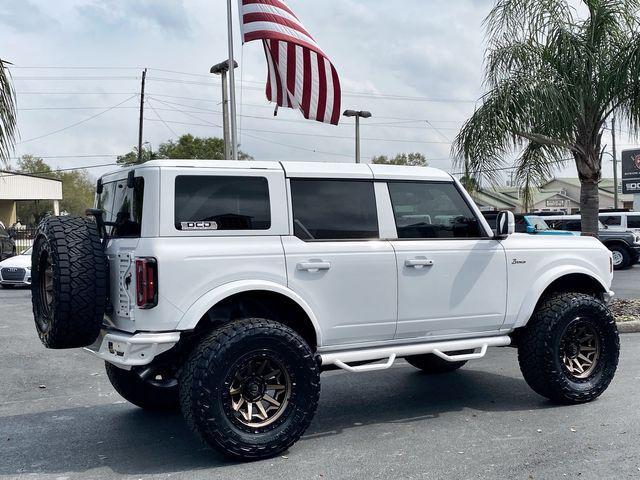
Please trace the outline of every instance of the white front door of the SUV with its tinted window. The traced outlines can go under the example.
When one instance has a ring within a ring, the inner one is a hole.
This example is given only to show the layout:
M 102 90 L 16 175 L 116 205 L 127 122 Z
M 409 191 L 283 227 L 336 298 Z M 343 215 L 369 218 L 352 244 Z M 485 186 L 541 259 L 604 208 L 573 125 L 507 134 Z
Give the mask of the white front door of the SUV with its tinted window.
M 505 318 L 506 255 L 454 183 L 389 182 L 398 239 L 396 338 L 496 331 Z

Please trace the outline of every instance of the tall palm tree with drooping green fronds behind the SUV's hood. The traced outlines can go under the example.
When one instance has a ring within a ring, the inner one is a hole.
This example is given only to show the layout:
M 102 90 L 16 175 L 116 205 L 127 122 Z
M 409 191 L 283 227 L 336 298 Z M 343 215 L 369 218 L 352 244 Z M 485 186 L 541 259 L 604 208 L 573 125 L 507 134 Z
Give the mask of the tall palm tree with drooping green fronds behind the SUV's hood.
M 573 160 L 583 233 L 596 234 L 606 121 L 640 130 L 639 10 L 640 0 L 498 0 L 484 21 L 487 93 L 455 139 L 458 164 L 497 183 L 517 155 L 527 200 Z

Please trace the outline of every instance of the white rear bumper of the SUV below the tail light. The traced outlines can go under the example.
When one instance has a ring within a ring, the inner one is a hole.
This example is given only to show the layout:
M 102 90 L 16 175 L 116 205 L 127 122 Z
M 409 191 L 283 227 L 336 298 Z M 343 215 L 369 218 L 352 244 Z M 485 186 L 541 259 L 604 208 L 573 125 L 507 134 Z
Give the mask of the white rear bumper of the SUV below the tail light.
M 148 365 L 180 340 L 180 332 L 126 333 L 102 330 L 93 345 L 85 350 L 119 367 Z

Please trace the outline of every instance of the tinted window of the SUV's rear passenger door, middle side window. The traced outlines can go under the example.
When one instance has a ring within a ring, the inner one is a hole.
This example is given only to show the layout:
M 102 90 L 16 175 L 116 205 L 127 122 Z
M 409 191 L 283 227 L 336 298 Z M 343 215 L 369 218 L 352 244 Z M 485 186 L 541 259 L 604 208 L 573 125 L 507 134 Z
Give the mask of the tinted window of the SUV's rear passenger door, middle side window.
M 373 182 L 291 180 L 293 226 L 302 240 L 378 238 Z

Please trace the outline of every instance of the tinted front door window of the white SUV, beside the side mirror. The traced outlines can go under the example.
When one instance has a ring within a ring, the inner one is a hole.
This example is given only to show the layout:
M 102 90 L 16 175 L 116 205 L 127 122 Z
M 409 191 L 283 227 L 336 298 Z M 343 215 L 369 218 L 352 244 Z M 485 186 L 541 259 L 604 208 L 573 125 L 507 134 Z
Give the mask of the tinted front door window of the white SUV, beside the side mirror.
M 398 238 L 485 236 L 453 183 L 389 182 Z

